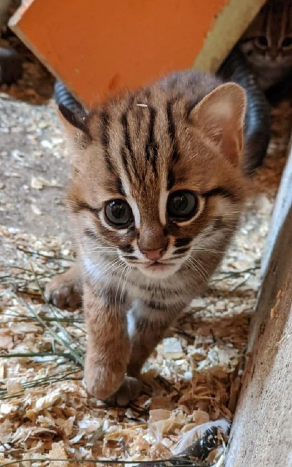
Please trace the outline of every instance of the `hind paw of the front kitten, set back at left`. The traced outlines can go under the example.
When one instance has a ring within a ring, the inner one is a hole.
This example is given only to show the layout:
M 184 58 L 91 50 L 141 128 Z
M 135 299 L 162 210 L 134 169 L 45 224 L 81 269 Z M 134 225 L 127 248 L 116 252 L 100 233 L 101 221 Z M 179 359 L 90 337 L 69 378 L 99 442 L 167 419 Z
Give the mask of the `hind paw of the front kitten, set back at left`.
M 82 282 L 81 266 L 76 262 L 46 285 L 45 297 L 58 308 L 76 310 L 82 301 Z

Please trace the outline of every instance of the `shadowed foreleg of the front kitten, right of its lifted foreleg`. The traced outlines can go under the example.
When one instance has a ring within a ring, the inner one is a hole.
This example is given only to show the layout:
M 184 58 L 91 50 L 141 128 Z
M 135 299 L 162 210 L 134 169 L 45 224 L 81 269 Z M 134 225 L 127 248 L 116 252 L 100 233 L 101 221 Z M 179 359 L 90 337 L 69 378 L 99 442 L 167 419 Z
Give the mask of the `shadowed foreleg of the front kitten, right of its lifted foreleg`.
M 142 306 L 141 303 L 139 310 L 132 310 L 129 315 L 132 347 L 127 374 L 135 378 L 139 378 L 143 364 L 183 309 L 181 304 L 171 310 L 153 310 L 147 304 L 141 309 Z

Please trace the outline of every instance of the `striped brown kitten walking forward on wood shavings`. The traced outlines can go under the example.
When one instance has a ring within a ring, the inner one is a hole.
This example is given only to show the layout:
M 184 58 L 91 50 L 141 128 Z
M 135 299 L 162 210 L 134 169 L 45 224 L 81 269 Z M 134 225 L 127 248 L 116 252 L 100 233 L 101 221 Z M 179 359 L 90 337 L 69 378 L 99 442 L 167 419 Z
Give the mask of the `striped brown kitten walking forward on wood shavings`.
M 90 394 L 120 405 L 229 245 L 244 199 L 245 92 L 187 71 L 80 117 L 68 202 L 78 262 L 48 285 L 57 306 L 83 295 Z

